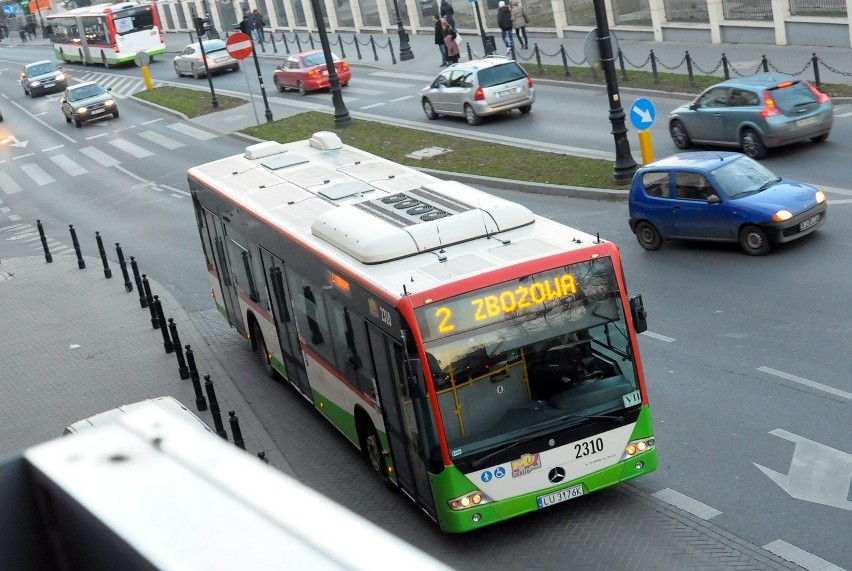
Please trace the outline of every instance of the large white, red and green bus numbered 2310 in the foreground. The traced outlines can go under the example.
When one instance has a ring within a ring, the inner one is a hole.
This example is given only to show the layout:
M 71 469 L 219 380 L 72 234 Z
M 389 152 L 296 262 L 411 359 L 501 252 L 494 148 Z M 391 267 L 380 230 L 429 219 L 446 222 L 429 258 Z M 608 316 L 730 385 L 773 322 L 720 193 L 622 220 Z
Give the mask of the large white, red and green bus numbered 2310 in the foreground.
M 327 131 L 188 180 L 220 312 L 443 530 L 656 469 L 613 243 Z

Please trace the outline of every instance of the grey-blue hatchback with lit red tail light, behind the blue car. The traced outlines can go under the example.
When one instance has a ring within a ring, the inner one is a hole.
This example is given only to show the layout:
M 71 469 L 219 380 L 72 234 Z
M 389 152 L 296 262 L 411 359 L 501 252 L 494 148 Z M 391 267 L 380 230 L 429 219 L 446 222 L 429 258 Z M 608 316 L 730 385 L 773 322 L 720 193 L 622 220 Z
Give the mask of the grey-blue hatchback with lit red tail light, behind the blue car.
M 689 105 L 669 113 L 669 133 L 679 149 L 693 143 L 740 147 L 753 159 L 770 147 L 828 138 L 831 98 L 807 81 L 760 73 L 708 87 Z

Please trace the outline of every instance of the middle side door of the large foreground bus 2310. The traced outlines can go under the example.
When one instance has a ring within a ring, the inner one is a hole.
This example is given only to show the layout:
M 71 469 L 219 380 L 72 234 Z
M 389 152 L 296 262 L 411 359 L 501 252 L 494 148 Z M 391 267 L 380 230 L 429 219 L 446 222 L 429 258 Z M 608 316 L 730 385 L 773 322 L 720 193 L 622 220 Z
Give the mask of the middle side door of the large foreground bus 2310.
M 275 329 L 278 331 L 278 342 L 284 359 L 287 379 L 293 383 L 299 392 L 308 400 L 311 398 L 311 387 L 305 370 L 305 361 L 299 347 L 299 332 L 296 320 L 293 318 L 290 294 L 287 290 L 287 279 L 284 274 L 284 262 L 263 248 L 260 249 L 263 261 L 263 273 L 266 276 L 266 287 L 272 297 L 272 314 L 275 318 Z

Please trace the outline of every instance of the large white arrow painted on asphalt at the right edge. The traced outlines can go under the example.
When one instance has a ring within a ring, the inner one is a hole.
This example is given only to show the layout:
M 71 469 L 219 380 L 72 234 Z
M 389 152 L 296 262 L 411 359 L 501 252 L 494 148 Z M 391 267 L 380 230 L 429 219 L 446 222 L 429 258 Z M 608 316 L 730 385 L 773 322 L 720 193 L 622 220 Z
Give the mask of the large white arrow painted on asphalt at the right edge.
M 852 502 L 847 499 L 852 483 L 852 454 L 780 428 L 769 434 L 796 444 L 788 473 L 752 464 L 797 500 L 852 511 Z

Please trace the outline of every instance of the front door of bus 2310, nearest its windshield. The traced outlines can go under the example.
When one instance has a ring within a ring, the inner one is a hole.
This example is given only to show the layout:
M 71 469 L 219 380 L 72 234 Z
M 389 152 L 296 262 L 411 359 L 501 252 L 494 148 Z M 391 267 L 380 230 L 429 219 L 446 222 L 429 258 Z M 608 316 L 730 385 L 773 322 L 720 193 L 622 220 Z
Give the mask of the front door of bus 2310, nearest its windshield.
M 422 431 L 418 430 L 415 419 L 406 413 L 405 408 L 411 406 L 411 399 L 408 396 L 408 383 L 404 382 L 401 370 L 402 347 L 372 323 L 367 325 L 367 329 L 376 366 L 376 388 L 379 391 L 397 484 L 434 518 L 435 503 L 418 435 Z

